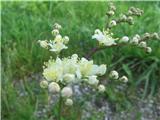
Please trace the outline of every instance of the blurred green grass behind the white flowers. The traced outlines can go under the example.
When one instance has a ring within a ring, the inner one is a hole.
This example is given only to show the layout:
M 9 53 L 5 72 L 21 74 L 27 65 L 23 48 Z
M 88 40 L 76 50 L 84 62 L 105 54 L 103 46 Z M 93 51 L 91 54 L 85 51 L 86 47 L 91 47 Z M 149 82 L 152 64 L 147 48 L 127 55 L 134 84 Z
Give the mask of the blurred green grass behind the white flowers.
M 124 23 L 113 29 L 116 37 L 160 32 L 160 2 L 114 4 L 117 16 L 131 6 L 144 10 L 141 17 L 135 18 L 134 25 Z M 108 2 L 1 2 L 3 120 L 35 120 L 37 101 L 47 98 L 32 76 L 42 72 L 43 62 L 52 54 L 39 47 L 37 40 L 51 39 L 52 25 L 58 22 L 63 27 L 62 35 L 70 37 L 69 49 L 62 54 L 83 56 L 96 45 L 91 39 L 94 30 L 105 26 L 107 5 Z M 153 97 L 160 85 L 160 41 L 151 40 L 148 44 L 153 49 L 151 54 L 126 46 L 97 52 L 93 59 L 127 75 L 129 95 Z M 114 84 L 107 88 L 108 100 L 120 106 L 129 101 L 129 96 L 114 93 L 112 89 Z M 138 94 L 140 89 L 142 93 Z M 20 97 L 19 91 L 28 95 Z

